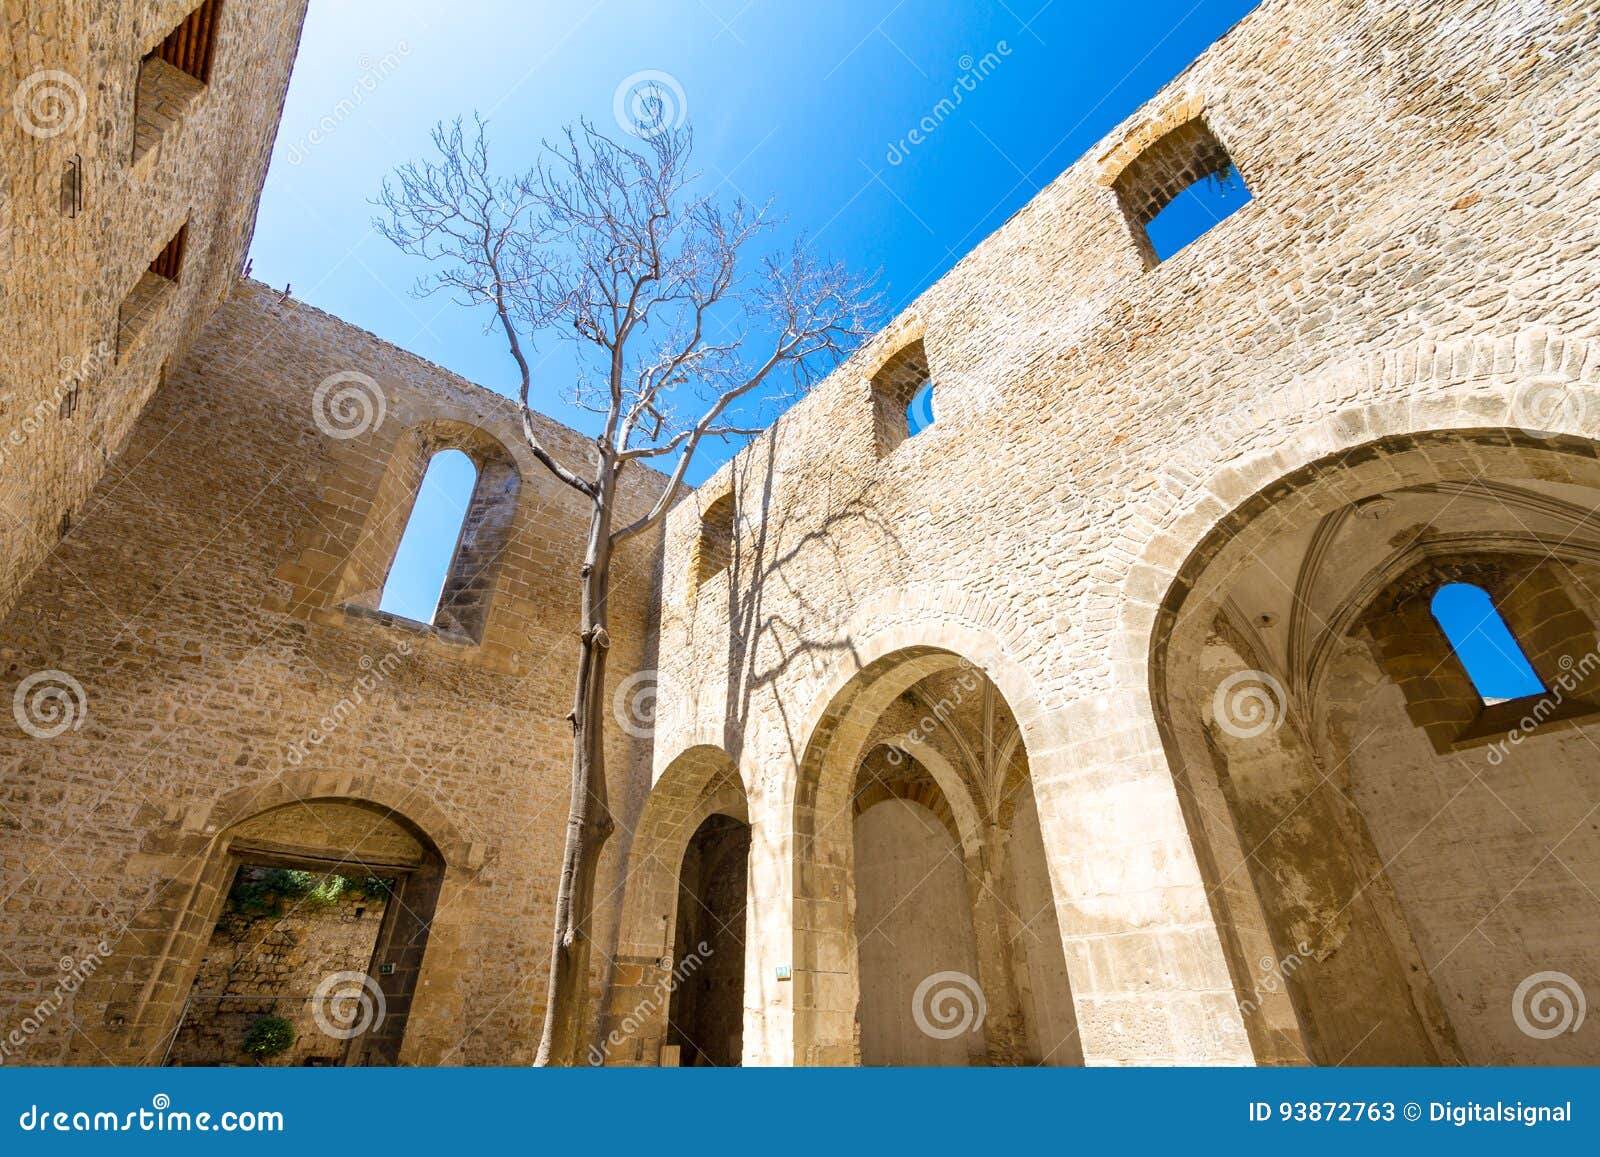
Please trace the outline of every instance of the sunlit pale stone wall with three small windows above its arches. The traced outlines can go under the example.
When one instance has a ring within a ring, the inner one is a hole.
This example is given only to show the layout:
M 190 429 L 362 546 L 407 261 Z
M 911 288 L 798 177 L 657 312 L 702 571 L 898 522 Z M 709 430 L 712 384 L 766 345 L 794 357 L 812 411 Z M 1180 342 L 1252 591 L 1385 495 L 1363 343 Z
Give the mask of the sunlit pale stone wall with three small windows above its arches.
M 1581 3 L 1269 0 L 670 515 L 654 767 L 709 744 L 746 784 L 747 1061 L 842 1055 L 795 1029 L 832 986 L 802 959 L 800 768 L 912 647 L 1021 723 L 1085 1059 L 1253 1058 L 1152 704 L 1160 607 L 1330 454 L 1381 477 L 1360 448 L 1413 430 L 1592 437 L 1597 42 Z M 1115 181 L 1195 115 L 1253 200 L 1146 267 Z M 938 422 L 878 456 L 870 382 L 914 339 Z M 731 562 L 694 584 L 723 493 Z

